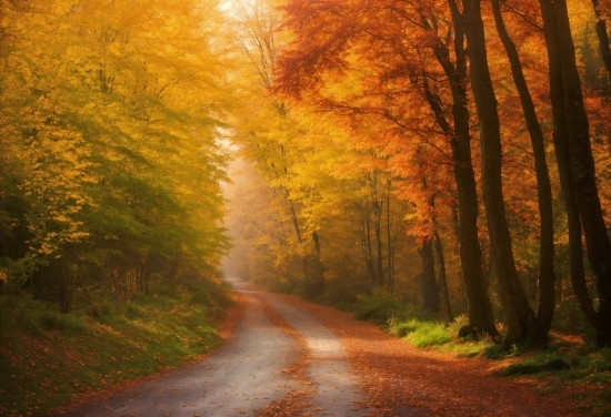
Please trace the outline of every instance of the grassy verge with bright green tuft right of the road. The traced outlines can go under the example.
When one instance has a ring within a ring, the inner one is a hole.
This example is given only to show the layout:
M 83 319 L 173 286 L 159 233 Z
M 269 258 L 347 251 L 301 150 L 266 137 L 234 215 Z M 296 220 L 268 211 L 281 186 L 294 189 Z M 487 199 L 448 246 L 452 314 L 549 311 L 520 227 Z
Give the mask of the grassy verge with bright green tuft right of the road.
M 499 360 L 498 374 L 539 379 L 540 393 L 563 390 L 581 405 L 583 415 L 611 415 L 611 349 L 598 349 L 580 337 L 552 333 L 545 349 L 513 346 L 505 352 L 491 340 L 459 338 L 457 323 L 389 319 L 390 334 L 417 347 L 431 347 L 461 357 Z M 510 359 L 510 360 L 507 360 Z

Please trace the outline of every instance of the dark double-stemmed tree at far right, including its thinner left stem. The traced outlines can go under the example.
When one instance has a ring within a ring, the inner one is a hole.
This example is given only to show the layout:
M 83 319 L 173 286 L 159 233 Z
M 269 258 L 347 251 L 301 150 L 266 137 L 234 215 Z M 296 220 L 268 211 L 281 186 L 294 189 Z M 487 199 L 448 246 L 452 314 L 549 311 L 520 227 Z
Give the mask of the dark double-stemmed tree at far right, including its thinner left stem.
M 593 319 L 599 346 L 611 346 L 611 243 L 602 215 L 590 125 L 583 104 L 574 45 L 564 0 L 540 0 L 549 59 L 550 98 L 553 110 L 554 146 L 569 217 L 571 276 L 575 295 Z M 581 226 L 579 226 L 581 223 Z M 599 308 L 584 291 L 581 267 L 581 227 L 588 257 L 597 277 Z

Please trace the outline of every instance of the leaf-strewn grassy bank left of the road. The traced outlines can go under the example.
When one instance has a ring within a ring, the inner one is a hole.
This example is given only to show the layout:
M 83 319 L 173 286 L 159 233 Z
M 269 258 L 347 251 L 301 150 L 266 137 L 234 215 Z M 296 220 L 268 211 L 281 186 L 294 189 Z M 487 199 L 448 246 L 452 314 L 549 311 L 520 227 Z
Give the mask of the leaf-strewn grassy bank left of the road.
M 222 343 L 221 305 L 208 293 L 100 303 L 60 314 L 28 297 L 0 297 L 0 415 L 46 415 L 76 395 L 192 360 Z M 158 293 L 159 294 L 159 293 Z

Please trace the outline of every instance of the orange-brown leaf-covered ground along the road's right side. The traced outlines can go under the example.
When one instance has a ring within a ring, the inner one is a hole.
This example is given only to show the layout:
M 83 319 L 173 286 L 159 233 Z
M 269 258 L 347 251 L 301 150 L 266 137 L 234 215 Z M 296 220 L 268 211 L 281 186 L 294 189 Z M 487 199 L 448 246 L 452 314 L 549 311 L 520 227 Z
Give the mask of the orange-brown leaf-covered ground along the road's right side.
M 579 416 L 569 391 L 494 375 L 499 362 L 419 349 L 351 314 L 277 295 L 340 336 L 375 416 Z

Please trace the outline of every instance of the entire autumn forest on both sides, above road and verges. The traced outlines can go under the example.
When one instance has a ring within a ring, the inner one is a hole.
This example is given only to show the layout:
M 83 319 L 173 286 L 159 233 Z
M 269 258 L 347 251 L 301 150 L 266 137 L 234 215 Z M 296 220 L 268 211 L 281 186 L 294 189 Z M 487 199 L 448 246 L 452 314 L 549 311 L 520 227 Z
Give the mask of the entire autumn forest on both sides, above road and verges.
M 240 276 L 508 348 L 553 328 L 611 347 L 609 17 L 2 0 L 0 303 L 214 304 Z

